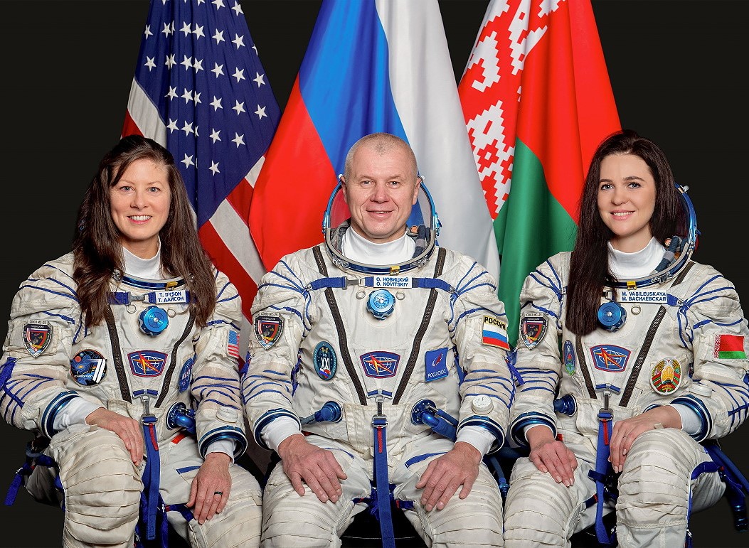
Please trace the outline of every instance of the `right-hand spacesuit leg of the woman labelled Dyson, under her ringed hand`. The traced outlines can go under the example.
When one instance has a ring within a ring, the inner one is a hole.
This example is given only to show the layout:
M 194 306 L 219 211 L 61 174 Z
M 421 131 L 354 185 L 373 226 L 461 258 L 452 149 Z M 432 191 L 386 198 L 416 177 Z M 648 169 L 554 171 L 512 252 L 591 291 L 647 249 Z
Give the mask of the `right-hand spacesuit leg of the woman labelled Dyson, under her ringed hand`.
M 260 544 L 262 493 L 255 477 L 240 466 L 231 466 L 231 493 L 221 512 L 202 525 L 189 523 L 193 548 L 254 548 Z

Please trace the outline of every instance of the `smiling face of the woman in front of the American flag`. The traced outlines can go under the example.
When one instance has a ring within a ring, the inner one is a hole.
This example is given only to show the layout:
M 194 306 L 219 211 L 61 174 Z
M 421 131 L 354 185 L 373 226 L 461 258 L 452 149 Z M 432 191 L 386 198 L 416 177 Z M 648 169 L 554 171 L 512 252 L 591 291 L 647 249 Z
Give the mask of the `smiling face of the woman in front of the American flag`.
M 112 220 L 120 243 L 136 257 L 150 259 L 159 251 L 159 232 L 169 218 L 172 190 L 165 165 L 138 159 L 109 187 Z

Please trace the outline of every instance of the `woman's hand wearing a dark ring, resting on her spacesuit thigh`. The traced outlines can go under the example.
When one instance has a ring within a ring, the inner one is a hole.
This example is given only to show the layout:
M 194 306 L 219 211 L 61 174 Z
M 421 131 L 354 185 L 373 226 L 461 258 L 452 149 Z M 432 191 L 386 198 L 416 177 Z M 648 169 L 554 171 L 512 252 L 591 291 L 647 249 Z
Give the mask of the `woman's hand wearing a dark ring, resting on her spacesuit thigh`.
M 189 488 L 187 506 L 201 525 L 214 515 L 220 514 L 226 506 L 231 492 L 231 475 L 228 454 L 215 451 L 205 456 Z

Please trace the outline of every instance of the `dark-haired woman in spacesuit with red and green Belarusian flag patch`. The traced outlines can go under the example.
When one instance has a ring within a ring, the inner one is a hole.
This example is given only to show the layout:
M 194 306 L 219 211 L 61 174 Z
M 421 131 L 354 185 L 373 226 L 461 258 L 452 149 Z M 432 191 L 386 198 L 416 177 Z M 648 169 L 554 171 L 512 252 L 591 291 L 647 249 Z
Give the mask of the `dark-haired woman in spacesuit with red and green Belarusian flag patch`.
M 723 495 L 715 440 L 747 416 L 749 329 L 733 284 L 691 260 L 696 238 L 663 151 L 606 138 L 573 251 L 521 290 L 510 430 L 530 454 L 512 470 L 506 547 L 569 546 L 592 525 L 605 546 L 689 545 L 690 513 Z

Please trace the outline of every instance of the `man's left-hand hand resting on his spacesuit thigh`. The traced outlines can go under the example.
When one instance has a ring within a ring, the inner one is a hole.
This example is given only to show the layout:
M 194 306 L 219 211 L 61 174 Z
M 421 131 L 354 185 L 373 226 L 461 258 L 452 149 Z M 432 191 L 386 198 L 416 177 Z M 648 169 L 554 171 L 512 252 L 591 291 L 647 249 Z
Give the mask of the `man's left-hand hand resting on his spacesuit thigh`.
M 297 433 L 279 443 L 278 454 L 283 471 L 300 496 L 304 495 L 304 481 L 321 502 L 338 501 L 343 493 L 340 480 L 347 476 L 332 452 L 312 445 Z

